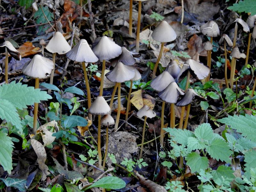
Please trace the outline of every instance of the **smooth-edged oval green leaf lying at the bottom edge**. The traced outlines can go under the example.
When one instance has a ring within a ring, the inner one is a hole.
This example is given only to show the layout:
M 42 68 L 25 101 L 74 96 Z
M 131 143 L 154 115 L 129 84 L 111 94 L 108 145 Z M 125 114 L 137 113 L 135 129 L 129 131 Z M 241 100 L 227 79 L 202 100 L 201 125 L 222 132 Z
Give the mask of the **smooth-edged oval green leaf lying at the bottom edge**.
M 85 190 L 93 187 L 100 187 L 104 189 L 121 189 L 125 187 L 125 182 L 124 180 L 118 177 L 113 177 L 113 176 L 103 177 L 102 179 L 97 180 L 91 186 L 85 188 Z

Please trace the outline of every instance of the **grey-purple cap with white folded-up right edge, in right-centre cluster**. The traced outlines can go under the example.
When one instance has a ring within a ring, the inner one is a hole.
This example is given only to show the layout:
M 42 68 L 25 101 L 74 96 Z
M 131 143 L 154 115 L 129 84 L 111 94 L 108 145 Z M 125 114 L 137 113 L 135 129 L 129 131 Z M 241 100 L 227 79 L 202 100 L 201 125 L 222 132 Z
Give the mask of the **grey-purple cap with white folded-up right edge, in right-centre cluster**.
M 175 82 L 170 83 L 163 91 L 158 93 L 160 99 L 167 103 L 176 103 L 179 95 L 184 95 L 184 92 Z

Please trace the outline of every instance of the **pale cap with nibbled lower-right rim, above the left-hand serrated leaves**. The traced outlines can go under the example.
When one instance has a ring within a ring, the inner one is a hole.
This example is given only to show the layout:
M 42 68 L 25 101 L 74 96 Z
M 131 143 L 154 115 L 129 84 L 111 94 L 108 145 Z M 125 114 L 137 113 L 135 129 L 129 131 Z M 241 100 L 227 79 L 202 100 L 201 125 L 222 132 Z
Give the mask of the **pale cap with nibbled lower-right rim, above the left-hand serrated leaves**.
M 52 60 L 35 55 L 31 61 L 23 66 L 22 73 L 34 78 L 44 78 L 47 76 L 46 74 L 51 74 L 52 69 Z

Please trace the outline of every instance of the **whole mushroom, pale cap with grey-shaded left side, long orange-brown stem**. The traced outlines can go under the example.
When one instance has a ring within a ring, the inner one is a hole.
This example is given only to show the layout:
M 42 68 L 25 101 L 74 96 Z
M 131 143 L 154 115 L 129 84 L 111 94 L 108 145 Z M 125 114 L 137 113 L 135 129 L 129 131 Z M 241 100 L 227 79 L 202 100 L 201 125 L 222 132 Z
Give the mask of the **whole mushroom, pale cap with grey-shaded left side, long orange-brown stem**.
M 90 91 L 90 85 L 87 77 L 85 62 L 94 63 L 94 62 L 97 62 L 99 59 L 92 52 L 91 47 L 89 46 L 89 44 L 85 39 L 81 39 L 76 44 L 76 46 L 73 47 L 73 49 L 67 52 L 67 57 L 72 61 L 82 62 L 86 91 L 87 91 L 88 109 L 89 109 L 91 107 L 91 91 Z M 92 115 L 88 114 L 88 116 L 89 116 L 89 119 L 92 121 Z

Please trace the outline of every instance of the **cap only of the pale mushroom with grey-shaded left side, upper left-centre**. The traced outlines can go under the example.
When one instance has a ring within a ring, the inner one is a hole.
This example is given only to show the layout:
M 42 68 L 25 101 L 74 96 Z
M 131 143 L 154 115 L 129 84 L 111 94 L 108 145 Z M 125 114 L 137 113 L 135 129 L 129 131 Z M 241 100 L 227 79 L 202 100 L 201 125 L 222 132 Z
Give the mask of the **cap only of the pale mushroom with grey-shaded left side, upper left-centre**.
M 68 59 L 77 62 L 94 63 L 99 59 L 92 52 L 91 47 L 85 39 L 81 39 L 73 49 L 67 52 Z

